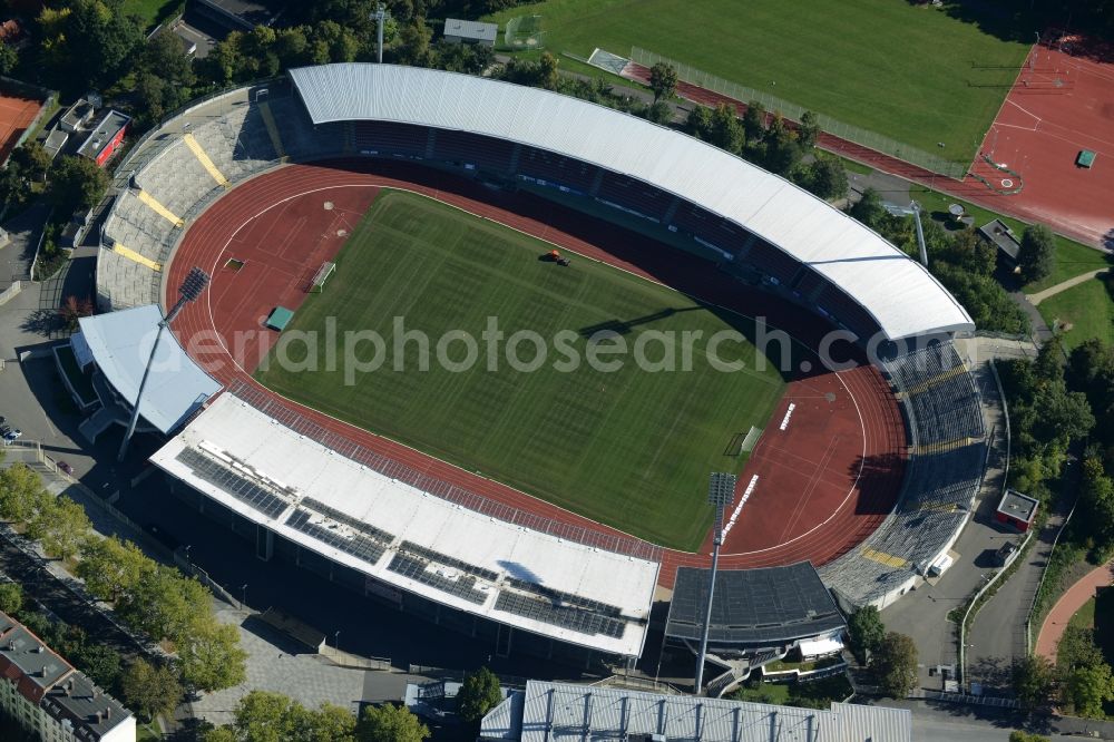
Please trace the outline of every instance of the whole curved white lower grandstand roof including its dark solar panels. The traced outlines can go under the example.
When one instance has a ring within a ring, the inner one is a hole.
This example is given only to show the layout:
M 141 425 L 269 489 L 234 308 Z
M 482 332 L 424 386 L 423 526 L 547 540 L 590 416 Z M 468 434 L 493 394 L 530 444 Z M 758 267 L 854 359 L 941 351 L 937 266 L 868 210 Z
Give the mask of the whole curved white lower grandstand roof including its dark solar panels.
M 609 654 L 642 652 L 656 562 L 469 510 L 232 393 L 150 460 L 244 518 L 394 587 Z

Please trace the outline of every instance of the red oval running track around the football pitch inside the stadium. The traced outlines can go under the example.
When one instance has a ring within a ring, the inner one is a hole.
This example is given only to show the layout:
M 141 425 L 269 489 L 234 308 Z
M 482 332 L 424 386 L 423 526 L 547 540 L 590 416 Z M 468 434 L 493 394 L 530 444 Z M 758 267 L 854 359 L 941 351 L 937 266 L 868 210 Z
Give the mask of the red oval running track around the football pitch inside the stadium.
M 543 517 L 619 533 L 285 400 L 251 378 L 276 336 L 262 328 L 262 320 L 276 305 L 297 309 L 314 271 L 336 254 L 380 187 L 429 195 L 704 301 L 750 316 L 766 316 L 770 325 L 809 348 L 815 348 L 828 330 L 802 309 L 763 292 L 746 291 L 711 263 L 675 247 L 642 236 L 632 240 L 629 232 L 538 196 L 494 191 L 405 163 L 286 166 L 235 188 L 190 226 L 167 270 L 166 285 L 179 285 L 194 265 L 213 275 L 206 300 L 187 305 L 175 323 L 175 333 L 216 379 L 224 384 L 251 384 L 348 440 Z M 228 266 L 233 258 L 242 266 Z M 857 353 L 851 348 L 844 350 L 849 355 Z M 794 373 L 740 478 L 736 501 L 753 475 L 759 481 L 729 533 L 723 558 L 726 567 L 775 566 L 803 559 L 820 566 L 866 538 L 896 502 L 905 466 L 905 428 L 897 402 L 878 371 L 859 364 L 839 373 L 812 369 Z M 782 431 L 790 403 L 794 410 Z M 710 547 L 710 541 L 705 546 Z M 700 555 L 666 550 L 662 585 L 672 586 L 680 565 L 705 565 L 706 550 Z

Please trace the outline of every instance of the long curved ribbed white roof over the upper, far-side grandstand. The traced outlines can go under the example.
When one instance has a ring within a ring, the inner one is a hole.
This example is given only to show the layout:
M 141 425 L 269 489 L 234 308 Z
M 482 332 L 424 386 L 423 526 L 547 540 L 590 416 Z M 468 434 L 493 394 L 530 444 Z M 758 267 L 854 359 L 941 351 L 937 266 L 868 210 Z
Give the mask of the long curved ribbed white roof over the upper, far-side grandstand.
M 726 217 L 846 291 L 891 340 L 974 329 L 929 272 L 824 201 L 717 147 L 610 108 L 509 82 L 391 65 L 290 70 L 314 125 L 382 120 L 538 147 Z

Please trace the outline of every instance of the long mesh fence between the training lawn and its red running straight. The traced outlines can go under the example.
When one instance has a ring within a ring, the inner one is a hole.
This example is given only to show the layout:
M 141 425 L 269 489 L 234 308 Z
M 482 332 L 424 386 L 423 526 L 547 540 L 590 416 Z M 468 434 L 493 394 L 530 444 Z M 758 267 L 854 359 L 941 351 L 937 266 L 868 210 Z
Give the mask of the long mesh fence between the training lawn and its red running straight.
M 688 65 L 670 59 L 668 57 L 663 57 L 653 51 L 647 51 L 641 47 L 631 48 L 631 61 L 642 65 L 643 67 L 653 67 L 658 62 L 664 62 L 677 70 L 677 78 L 684 82 L 695 85 L 704 88 L 705 90 L 711 90 L 712 92 L 731 98 L 737 102 L 747 104 L 752 100 L 758 101 L 762 104 L 766 110 L 779 111 L 785 118 L 794 121 L 800 121 L 801 116 L 807 110 L 803 106 L 799 106 L 798 104 L 772 96 L 769 92 L 763 92 L 762 90 L 749 88 L 745 85 L 739 85 L 736 82 L 724 80 L 723 78 L 705 72 L 704 70 L 690 67 Z M 846 139 L 847 141 L 873 149 L 874 152 L 883 155 L 924 167 L 927 170 L 945 175 L 957 180 L 961 179 L 967 174 L 967 163 L 957 163 L 938 155 L 932 155 L 922 149 L 911 147 L 896 139 L 878 134 L 877 131 L 870 131 L 869 129 L 846 124 L 844 121 L 834 119 L 831 116 L 825 116 L 824 114 L 815 114 L 815 116 L 817 121 L 820 124 L 820 128 L 823 131 L 834 137 L 839 137 L 840 139 Z

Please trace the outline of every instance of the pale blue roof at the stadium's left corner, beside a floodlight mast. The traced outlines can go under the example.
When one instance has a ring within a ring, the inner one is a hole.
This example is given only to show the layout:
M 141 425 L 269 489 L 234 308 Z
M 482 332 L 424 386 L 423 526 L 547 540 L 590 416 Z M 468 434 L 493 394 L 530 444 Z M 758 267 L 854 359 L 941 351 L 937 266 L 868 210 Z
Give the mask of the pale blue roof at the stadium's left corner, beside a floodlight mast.
M 163 312 L 157 304 L 81 318 L 81 336 L 97 368 L 128 404 L 136 403 L 147 359 Z M 174 333 L 163 333 L 150 367 L 139 414 L 168 433 L 221 390 L 178 344 Z

